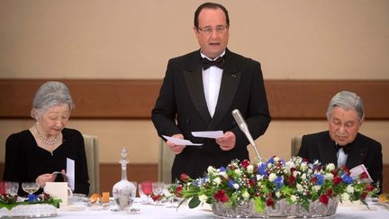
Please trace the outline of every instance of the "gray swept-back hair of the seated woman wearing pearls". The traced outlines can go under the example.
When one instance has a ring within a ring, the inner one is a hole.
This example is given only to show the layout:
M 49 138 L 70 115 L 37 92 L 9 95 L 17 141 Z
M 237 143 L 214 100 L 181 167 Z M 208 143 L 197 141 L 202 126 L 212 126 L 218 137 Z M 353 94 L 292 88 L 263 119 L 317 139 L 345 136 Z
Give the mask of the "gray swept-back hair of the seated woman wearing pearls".
M 68 87 L 59 81 L 46 82 L 38 89 L 32 101 L 32 118 L 37 119 L 34 112 L 42 114 L 52 106 L 63 104 L 68 104 L 70 111 L 74 108 Z

